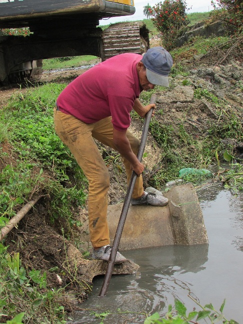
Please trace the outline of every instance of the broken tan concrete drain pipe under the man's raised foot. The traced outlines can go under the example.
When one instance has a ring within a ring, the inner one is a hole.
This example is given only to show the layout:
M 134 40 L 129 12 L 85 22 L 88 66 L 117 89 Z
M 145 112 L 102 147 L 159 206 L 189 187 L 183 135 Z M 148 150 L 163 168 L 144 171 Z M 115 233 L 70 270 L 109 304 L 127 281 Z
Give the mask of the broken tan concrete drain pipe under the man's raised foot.
M 202 211 L 192 184 L 171 187 L 166 206 L 130 206 L 119 249 L 208 242 Z M 115 235 L 123 203 L 108 206 L 110 238 Z

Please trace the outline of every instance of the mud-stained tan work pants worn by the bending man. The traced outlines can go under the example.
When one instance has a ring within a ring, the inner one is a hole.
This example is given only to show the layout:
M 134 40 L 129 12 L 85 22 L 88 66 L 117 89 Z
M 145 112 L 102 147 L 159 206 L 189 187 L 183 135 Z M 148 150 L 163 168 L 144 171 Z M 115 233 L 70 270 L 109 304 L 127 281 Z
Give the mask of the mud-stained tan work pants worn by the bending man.
M 93 138 L 115 149 L 111 117 L 87 124 L 54 108 L 54 125 L 57 135 L 70 149 L 88 179 L 88 224 L 92 246 L 100 247 L 109 244 L 109 230 L 106 220 L 109 173 Z M 126 136 L 132 151 L 137 154 L 139 140 L 128 130 Z M 124 157 L 122 159 L 127 183 L 129 183 L 132 172 L 130 162 Z M 132 197 L 140 197 L 142 193 L 143 183 L 140 175 L 136 179 Z

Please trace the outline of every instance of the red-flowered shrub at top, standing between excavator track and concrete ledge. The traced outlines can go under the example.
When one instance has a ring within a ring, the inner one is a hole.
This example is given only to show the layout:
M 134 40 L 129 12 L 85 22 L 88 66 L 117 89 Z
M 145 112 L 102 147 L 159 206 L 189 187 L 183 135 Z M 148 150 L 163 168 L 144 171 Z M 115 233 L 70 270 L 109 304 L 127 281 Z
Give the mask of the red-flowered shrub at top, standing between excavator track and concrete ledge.
M 152 16 L 156 29 L 161 33 L 163 46 L 172 49 L 179 29 L 189 23 L 186 16 L 186 3 L 184 0 L 165 0 L 153 7 L 146 7 Z

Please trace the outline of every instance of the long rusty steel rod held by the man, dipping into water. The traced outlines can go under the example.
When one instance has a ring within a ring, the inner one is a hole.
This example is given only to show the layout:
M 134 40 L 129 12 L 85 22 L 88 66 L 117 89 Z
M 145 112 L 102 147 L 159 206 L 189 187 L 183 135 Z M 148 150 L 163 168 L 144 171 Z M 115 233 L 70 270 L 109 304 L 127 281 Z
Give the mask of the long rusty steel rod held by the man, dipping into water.
M 155 103 L 155 101 L 156 101 L 156 95 L 152 94 L 149 103 Z M 146 116 L 145 116 L 145 122 L 144 122 L 144 125 L 143 125 L 141 141 L 140 141 L 140 147 L 139 147 L 139 151 L 137 153 L 137 159 L 139 160 L 139 162 L 141 162 L 142 155 L 143 155 L 143 152 L 144 152 L 146 139 L 147 139 L 147 132 L 148 132 L 148 128 L 149 128 L 149 122 L 151 120 L 152 112 L 153 112 L 153 108 L 151 108 L 146 113 Z M 116 228 L 115 237 L 114 237 L 114 240 L 113 240 L 113 245 L 112 245 L 112 248 L 111 248 L 111 251 L 110 251 L 110 256 L 109 256 L 109 260 L 108 260 L 108 264 L 107 264 L 107 268 L 106 268 L 106 273 L 105 273 L 105 276 L 104 276 L 103 285 L 102 285 L 101 290 L 99 292 L 100 297 L 103 297 L 104 295 L 106 295 L 106 292 L 107 292 L 107 289 L 108 289 L 109 281 L 110 281 L 112 270 L 113 270 L 113 267 L 114 267 L 115 256 L 116 256 L 116 253 L 117 253 L 117 250 L 118 250 L 120 237 L 121 237 L 122 230 L 123 230 L 123 227 L 124 227 L 124 224 L 125 224 L 125 219 L 126 219 L 127 211 L 128 211 L 128 208 L 129 208 L 131 194 L 132 194 L 132 190 L 134 188 L 136 177 L 137 177 L 137 174 L 134 171 L 132 171 L 130 182 L 129 182 L 127 192 L 126 192 L 126 196 L 125 196 L 125 200 L 124 200 L 123 207 L 122 207 L 122 210 L 121 210 L 119 222 L 118 222 L 118 225 L 117 225 L 117 228 Z

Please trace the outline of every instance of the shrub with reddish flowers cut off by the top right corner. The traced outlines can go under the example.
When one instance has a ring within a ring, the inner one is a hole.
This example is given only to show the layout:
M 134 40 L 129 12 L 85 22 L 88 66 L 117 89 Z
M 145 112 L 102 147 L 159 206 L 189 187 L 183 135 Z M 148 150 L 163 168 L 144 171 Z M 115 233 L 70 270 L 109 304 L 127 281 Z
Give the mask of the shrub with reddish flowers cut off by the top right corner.
M 243 6 L 242 0 L 212 0 L 211 4 L 214 8 L 213 14 L 218 15 L 233 29 L 239 30 L 243 27 Z

